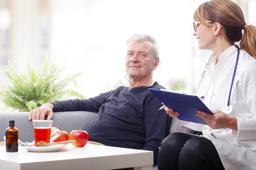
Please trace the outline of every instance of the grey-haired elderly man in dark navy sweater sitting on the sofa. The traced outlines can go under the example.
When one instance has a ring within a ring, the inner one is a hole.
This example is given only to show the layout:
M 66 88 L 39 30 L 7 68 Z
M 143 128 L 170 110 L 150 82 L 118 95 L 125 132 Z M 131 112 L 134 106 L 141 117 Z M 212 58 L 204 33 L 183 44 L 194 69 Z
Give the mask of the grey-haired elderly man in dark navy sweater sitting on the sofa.
M 171 118 L 148 88 L 163 88 L 153 81 L 159 63 L 158 46 L 149 35 L 133 35 L 127 41 L 125 59 L 129 87 L 118 87 L 89 99 L 53 101 L 32 110 L 29 120 L 53 117 L 53 112 L 90 111 L 98 113 L 82 130 L 90 141 L 107 146 L 154 151 L 157 164 L 160 142 L 168 134 Z

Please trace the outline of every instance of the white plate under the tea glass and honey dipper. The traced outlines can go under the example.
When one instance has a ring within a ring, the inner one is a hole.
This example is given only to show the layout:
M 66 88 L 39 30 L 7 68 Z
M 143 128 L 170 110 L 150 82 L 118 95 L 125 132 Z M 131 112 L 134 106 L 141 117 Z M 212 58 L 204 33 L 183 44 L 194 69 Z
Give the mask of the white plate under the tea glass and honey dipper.
M 23 147 L 26 148 L 29 152 L 56 152 L 65 146 L 67 146 L 67 144 L 51 145 L 47 147 L 36 147 L 36 146 L 23 146 Z

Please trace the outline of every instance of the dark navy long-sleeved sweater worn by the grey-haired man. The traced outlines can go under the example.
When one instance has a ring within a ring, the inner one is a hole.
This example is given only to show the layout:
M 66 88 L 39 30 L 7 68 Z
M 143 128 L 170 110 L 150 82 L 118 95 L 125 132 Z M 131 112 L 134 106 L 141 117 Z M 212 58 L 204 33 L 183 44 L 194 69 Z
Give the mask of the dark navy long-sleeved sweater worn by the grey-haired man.
M 82 130 L 89 140 L 107 146 L 136 148 L 154 151 L 157 163 L 160 142 L 170 129 L 171 118 L 162 104 L 147 88 L 163 88 L 155 82 L 152 86 L 118 87 L 86 100 L 53 101 L 53 112 L 90 111 L 98 113 Z

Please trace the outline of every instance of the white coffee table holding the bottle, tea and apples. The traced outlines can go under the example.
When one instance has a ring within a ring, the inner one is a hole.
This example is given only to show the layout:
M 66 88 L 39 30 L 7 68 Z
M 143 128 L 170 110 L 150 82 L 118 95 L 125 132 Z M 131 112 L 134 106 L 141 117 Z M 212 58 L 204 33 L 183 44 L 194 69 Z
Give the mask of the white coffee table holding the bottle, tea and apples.
M 0 169 L 118 169 L 134 167 L 152 170 L 153 152 L 128 148 L 87 144 L 74 147 L 68 144 L 57 152 L 6 152 L 0 147 Z

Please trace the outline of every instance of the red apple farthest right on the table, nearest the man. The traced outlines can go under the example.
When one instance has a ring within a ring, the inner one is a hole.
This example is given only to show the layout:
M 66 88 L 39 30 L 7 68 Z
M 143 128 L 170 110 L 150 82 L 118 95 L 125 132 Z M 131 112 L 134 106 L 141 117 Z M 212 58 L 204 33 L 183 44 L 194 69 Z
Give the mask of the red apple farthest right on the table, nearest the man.
M 89 141 L 89 135 L 85 130 L 72 130 L 69 134 L 69 139 L 75 140 L 75 143 L 72 143 L 75 147 L 83 147 Z

